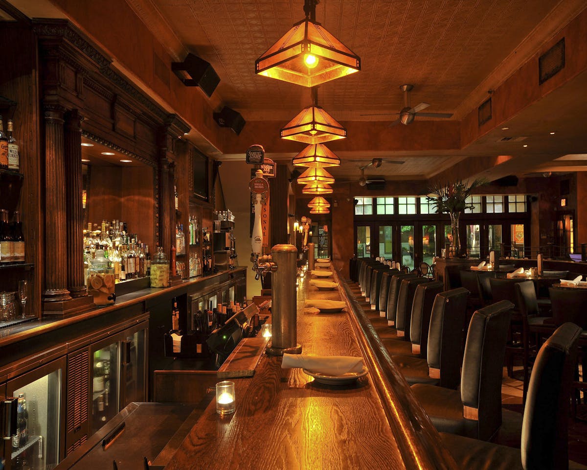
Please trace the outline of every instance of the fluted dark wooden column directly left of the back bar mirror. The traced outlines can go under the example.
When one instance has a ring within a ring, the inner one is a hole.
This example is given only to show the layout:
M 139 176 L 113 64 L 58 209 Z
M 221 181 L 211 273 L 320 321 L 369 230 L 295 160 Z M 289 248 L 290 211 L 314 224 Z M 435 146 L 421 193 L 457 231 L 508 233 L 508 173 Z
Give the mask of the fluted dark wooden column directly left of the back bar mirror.
M 87 295 L 83 278 L 82 120 L 77 109 L 65 114 L 68 288 L 72 297 Z

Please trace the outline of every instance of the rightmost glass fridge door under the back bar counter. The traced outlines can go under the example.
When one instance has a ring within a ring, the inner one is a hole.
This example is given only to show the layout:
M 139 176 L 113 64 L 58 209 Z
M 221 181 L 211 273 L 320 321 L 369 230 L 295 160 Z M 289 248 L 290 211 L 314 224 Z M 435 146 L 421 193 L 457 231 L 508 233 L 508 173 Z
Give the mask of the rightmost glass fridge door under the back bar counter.
M 146 394 L 147 326 L 124 331 L 120 368 L 120 409 L 133 401 L 147 401 Z

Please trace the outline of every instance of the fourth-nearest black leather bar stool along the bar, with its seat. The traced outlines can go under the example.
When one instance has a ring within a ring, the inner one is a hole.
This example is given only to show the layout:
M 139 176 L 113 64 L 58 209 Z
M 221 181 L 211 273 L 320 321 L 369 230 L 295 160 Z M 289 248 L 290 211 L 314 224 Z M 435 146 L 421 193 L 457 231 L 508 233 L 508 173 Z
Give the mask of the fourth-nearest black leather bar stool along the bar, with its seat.
M 443 288 L 444 284 L 441 282 L 418 284 L 411 306 L 410 343 L 399 338 L 384 340 L 389 354 L 407 354 L 426 359 L 430 314 L 434 298 L 443 291 Z

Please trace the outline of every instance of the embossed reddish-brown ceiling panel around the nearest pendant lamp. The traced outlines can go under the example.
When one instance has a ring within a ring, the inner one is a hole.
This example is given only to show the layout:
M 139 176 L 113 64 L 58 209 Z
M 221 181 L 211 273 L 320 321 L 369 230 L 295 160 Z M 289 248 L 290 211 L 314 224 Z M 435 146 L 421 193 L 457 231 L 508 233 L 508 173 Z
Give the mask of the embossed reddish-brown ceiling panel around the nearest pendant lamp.
M 247 120 L 282 119 L 309 91 L 254 73 L 254 62 L 294 22 L 303 0 L 151 0 L 191 52 L 214 66 L 222 101 Z M 362 71 L 323 85 L 321 106 L 359 119 L 413 103 L 453 112 L 527 36 L 552 0 L 322 0 L 316 19 L 362 59 Z M 336 117 L 336 114 L 334 114 Z M 384 119 L 384 118 L 382 118 Z

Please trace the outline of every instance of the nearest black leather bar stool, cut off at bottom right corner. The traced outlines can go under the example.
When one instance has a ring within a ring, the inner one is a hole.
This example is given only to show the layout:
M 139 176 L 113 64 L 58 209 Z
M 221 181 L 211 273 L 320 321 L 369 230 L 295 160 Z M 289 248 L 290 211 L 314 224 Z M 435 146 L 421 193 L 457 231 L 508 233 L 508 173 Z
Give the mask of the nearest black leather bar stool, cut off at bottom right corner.
M 528 387 L 521 449 L 441 433 L 456 468 L 569 468 L 568 413 L 571 378 L 581 328 L 565 323 L 542 345 Z

